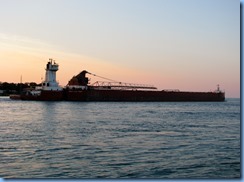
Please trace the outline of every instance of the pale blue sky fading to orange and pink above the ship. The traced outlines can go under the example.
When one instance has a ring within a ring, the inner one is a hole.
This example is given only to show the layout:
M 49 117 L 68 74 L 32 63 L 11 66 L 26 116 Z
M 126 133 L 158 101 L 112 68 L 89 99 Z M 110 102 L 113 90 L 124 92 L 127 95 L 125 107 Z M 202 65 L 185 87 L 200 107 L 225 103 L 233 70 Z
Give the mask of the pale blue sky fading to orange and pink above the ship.
M 0 81 L 40 83 L 49 58 L 63 86 L 87 70 L 239 98 L 240 1 L 0 0 Z

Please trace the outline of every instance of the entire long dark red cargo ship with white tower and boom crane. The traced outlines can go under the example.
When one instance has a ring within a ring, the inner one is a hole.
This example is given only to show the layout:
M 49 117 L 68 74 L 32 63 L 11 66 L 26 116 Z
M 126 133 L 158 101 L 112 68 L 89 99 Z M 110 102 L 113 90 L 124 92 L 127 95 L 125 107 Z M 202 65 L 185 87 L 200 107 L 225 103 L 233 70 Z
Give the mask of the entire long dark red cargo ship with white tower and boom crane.
M 40 87 L 24 91 L 12 99 L 40 101 L 113 101 L 113 102 L 218 102 L 225 101 L 225 92 L 219 85 L 213 92 L 189 92 L 180 90 L 157 90 L 153 85 L 117 82 L 90 73 L 86 70 L 72 77 L 67 86 L 62 88 L 56 81 L 59 65 L 49 59 L 46 76 Z M 90 84 L 90 74 L 107 81 L 95 81 Z M 11 96 L 10 96 L 11 98 Z

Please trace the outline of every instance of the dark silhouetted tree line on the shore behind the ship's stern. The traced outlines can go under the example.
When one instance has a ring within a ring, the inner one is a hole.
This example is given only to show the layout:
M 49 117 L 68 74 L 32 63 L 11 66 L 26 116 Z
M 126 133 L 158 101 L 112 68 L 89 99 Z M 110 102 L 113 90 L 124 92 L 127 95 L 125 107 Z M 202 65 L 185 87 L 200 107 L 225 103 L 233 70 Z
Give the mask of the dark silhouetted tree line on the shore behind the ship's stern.
M 26 88 L 35 88 L 36 86 L 41 86 L 35 82 L 28 83 L 8 83 L 0 82 L 0 95 L 8 96 L 9 94 L 19 94 Z

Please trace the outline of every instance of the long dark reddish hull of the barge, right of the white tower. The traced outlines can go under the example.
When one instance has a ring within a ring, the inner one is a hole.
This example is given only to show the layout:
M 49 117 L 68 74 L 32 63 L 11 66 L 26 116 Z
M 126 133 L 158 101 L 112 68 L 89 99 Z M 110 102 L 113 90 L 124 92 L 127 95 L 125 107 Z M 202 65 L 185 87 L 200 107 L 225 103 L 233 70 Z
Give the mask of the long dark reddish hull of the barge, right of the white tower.
M 224 93 L 216 92 L 171 92 L 132 90 L 67 90 L 67 101 L 118 101 L 118 102 L 220 102 Z

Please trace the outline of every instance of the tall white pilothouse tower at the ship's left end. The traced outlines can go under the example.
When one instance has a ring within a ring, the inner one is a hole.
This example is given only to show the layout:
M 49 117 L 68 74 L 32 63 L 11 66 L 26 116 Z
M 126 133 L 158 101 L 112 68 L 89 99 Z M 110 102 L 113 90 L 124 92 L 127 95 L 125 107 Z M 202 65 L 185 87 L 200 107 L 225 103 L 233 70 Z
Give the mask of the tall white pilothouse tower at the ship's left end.
M 42 82 L 43 90 L 63 90 L 56 81 L 56 72 L 58 71 L 59 65 L 55 63 L 53 59 L 49 59 L 46 66 L 45 80 Z

